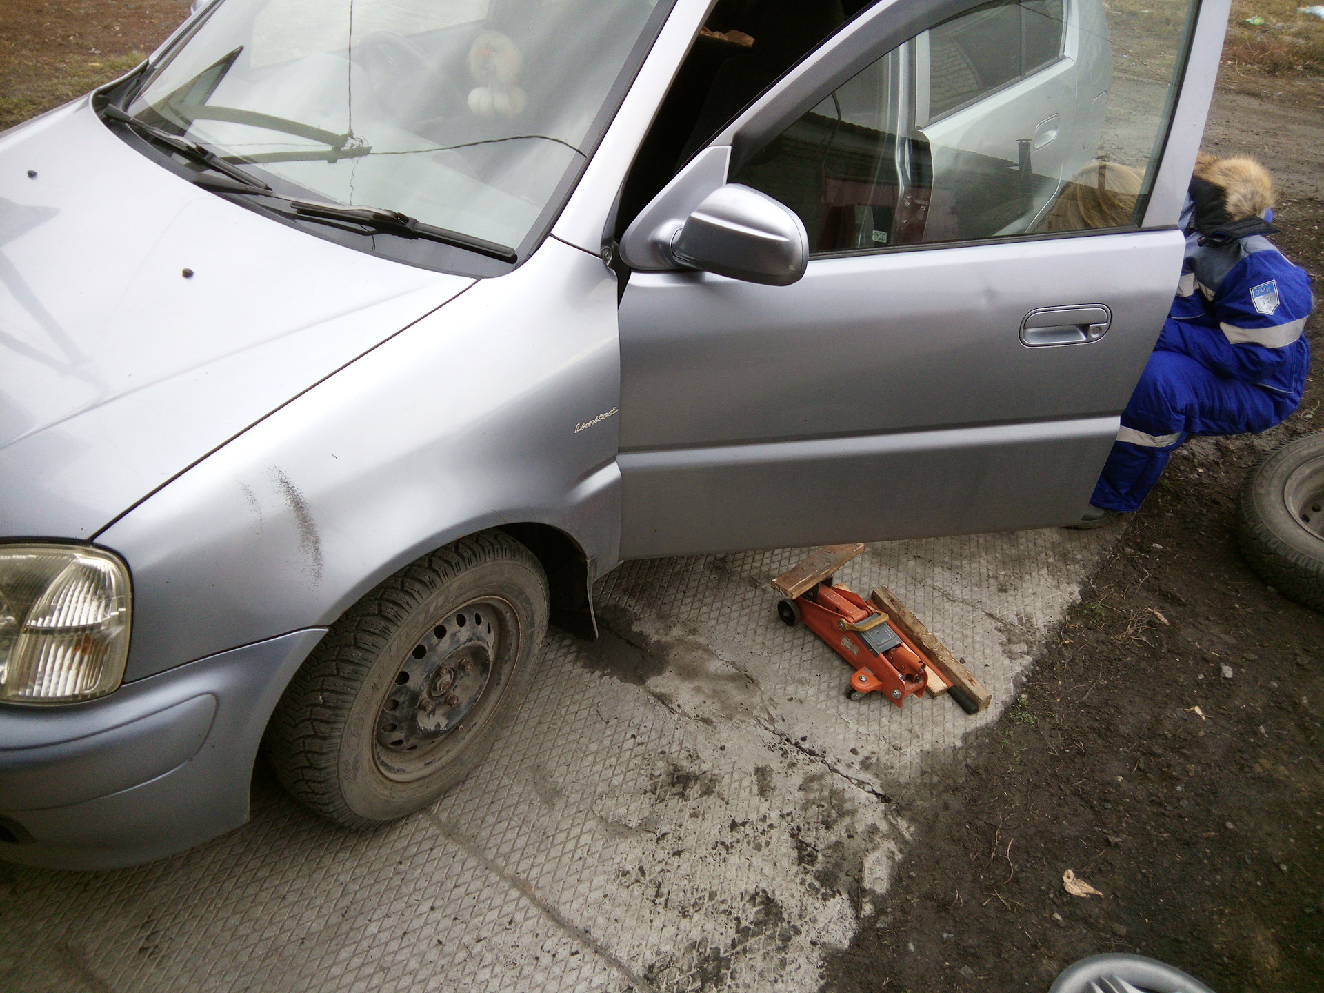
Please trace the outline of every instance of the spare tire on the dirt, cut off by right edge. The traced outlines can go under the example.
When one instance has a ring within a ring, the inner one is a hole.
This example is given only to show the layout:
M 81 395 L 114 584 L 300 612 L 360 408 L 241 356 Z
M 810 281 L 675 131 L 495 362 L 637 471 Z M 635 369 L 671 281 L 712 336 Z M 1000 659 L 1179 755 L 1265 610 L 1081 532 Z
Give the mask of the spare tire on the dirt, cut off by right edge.
M 1241 547 L 1284 596 L 1324 610 L 1324 434 L 1271 451 L 1246 479 Z

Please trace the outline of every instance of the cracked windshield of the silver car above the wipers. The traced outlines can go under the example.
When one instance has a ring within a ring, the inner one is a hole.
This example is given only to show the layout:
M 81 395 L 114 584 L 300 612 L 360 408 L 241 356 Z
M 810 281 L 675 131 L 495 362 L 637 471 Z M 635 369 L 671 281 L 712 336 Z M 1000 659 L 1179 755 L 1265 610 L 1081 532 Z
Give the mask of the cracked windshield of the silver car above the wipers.
M 224 0 L 128 113 L 281 192 L 515 248 L 592 151 L 655 7 Z

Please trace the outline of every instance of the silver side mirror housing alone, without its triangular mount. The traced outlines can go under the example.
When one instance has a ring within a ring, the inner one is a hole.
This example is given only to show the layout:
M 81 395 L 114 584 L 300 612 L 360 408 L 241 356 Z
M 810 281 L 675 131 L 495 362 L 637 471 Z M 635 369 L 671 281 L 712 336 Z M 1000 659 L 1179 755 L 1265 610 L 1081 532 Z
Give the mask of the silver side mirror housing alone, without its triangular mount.
M 805 274 L 809 236 L 804 221 L 767 193 L 728 183 L 694 208 L 663 252 L 690 269 L 789 286 Z

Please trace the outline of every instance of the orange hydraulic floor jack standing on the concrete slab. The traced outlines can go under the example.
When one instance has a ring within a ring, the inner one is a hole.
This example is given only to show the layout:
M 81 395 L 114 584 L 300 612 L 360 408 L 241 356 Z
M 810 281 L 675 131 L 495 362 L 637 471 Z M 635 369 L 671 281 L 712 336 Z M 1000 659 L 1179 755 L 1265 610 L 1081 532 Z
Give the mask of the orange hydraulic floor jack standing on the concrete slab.
M 851 699 L 882 691 L 900 707 L 907 696 L 928 687 L 932 662 L 924 653 L 888 624 L 882 610 L 851 589 L 833 587 L 830 576 L 794 600 L 781 600 L 777 616 L 790 626 L 804 621 L 846 659 L 855 670 Z

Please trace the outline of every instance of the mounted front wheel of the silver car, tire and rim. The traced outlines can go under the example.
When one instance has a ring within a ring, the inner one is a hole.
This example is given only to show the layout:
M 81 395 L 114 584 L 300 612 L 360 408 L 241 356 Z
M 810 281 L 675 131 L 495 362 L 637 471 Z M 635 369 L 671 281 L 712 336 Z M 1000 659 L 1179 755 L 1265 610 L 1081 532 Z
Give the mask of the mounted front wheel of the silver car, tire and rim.
M 547 617 L 542 565 L 500 531 L 400 569 L 331 625 L 277 704 L 267 757 L 281 784 L 346 828 L 428 806 L 491 749 Z

